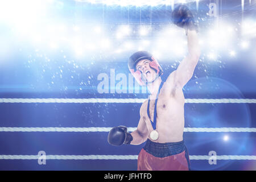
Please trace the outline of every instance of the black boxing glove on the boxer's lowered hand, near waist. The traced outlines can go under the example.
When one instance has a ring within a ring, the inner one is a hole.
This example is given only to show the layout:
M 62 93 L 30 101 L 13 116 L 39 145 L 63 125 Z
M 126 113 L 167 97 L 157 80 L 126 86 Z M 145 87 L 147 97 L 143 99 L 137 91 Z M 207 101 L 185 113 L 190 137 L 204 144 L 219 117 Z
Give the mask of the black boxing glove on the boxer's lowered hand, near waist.
M 130 133 L 127 133 L 126 126 L 117 126 L 113 127 L 109 131 L 108 142 L 113 146 L 121 146 L 122 144 L 130 144 L 133 140 L 133 136 Z

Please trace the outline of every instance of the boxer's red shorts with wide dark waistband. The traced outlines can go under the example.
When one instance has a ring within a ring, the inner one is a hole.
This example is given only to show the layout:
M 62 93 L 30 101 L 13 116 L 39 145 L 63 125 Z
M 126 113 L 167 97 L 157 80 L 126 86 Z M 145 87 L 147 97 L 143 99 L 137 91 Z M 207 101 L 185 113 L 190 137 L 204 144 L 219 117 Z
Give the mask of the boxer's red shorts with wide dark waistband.
M 187 171 L 190 160 L 184 142 L 155 143 L 147 140 L 139 152 L 138 171 Z

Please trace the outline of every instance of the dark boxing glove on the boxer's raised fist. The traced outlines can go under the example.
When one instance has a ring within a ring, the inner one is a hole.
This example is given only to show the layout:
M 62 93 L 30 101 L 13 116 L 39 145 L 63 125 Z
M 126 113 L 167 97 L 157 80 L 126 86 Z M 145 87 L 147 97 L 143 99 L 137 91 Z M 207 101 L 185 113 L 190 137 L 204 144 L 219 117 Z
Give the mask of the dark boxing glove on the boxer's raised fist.
M 198 32 L 198 26 L 193 18 L 192 12 L 185 5 L 177 6 L 171 15 L 172 21 L 178 27 L 185 28 L 187 30 L 196 30 Z

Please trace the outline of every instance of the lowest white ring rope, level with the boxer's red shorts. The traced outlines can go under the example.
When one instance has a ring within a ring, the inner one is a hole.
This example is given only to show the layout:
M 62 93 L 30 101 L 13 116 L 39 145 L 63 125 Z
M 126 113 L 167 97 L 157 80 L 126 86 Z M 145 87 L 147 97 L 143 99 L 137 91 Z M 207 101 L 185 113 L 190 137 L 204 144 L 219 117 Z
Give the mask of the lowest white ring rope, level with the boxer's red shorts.
M 58 160 L 134 160 L 138 159 L 138 155 L 44 155 L 44 159 Z M 213 157 L 216 160 L 256 160 L 256 155 L 189 155 L 190 160 L 211 160 Z M 0 159 L 39 159 L 42 160 L 42 155 L 0 155 Z

